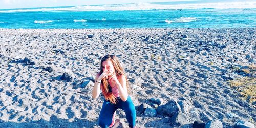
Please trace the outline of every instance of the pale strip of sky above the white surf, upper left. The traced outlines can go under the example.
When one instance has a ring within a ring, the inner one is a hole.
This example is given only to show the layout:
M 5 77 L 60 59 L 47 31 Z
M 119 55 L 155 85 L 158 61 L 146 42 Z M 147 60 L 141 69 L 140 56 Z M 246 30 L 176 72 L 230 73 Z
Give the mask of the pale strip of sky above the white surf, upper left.
M 169 2 L 187 0 L 0 0 L 0 9 L 33 8 L 33 7 L 57 7 L 77 5 L 102 5 L 102 4 L 124 4 L 145 2 Z

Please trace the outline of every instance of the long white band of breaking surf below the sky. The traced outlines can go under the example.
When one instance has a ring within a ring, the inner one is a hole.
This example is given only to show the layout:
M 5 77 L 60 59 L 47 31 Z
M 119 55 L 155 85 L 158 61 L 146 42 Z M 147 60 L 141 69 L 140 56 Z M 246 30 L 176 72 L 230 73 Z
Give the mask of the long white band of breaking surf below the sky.
M 163 9 L 248 9 L 255 8 L 256 2 L 211 2 L 211 3 L 189 3 L 189 4 L 164 4 L 164 3 L 134 3 L 134 4 L 112 4 L 97 6 L 73 6 L 73 7 L 51 7 L 51 8 L 28 8 L 0 10 L 0 13 L 32 12 L 32 11 L 125 11 L 125 10 L 163 10 Z

